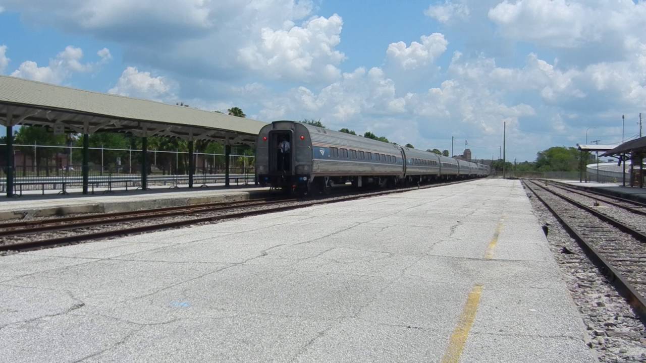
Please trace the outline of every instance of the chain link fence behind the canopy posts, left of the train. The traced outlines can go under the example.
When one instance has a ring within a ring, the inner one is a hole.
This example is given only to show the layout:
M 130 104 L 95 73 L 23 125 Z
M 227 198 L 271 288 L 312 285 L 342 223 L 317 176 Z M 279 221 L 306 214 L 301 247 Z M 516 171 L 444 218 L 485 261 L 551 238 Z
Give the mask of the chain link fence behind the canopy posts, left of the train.
M 0 190 L 6 191 L 6 146 L 0 143 Z M 149 186 L 178 187 L 189 183 L 189 153 L 148 150 Z M 225 182 L 225 155 L 194 152 L 194 185 Z M 137 149 L 89 148 L 89 189 L 111 191 L 141 187 L 143 152 Z M 16 192 L 68 192 L 83 187 L 83 148 L 14 144 Z M 253 183 L 254 156 L 229 155 L 229 182 Z

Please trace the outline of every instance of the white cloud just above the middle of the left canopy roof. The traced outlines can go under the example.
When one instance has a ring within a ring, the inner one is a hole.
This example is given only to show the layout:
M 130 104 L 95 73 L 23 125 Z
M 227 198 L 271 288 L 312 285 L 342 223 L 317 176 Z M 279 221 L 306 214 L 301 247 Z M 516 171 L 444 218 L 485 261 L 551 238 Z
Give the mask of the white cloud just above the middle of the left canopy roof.
M 140 72 L 136 67 L 127 67 L 108 93 L 155 101 L 174 101 L 176 88 L 171 79 L 154 77 L 151 72 Z

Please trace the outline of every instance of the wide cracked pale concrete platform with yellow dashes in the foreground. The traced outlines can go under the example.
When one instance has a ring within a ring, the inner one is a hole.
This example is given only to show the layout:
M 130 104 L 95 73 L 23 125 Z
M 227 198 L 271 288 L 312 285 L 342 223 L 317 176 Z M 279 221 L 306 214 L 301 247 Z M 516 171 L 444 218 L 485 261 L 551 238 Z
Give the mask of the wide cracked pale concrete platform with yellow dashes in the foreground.
M 6 362 L 594 362 L 517 180 L 0 258 Z

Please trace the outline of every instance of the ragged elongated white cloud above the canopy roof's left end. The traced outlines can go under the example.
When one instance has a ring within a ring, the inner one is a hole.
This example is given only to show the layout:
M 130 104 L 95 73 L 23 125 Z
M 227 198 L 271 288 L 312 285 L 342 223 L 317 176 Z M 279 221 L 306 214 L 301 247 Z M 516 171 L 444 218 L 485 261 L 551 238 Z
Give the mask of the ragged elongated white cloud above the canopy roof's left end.
M 99 50 L 99 53 L 103 54 L 101 56 L 101 62 L 109 61 L 110 51 L 107 48 Z M 99 54 L 100 56 L 100 54 Z M 24 61 L 18 67 L 17 70 L 12 72 L 12 76 L 26 79 L 33 79 L 34 81 L 41 81 L 47 83 L 61 83 L 65 79 L 72 76 L 73 73 L 87 73 L 92 72 L 96 69 L 99 63 L 81 63 L 81 58 L 83 58 L 83 50 L 81 48 L 72 47 L 68 45 L 65 47 L 65 50 L 59 52 L 56 57 L 49 60 L 47 66 L 38 67 L 38 64 L 34 61 Z

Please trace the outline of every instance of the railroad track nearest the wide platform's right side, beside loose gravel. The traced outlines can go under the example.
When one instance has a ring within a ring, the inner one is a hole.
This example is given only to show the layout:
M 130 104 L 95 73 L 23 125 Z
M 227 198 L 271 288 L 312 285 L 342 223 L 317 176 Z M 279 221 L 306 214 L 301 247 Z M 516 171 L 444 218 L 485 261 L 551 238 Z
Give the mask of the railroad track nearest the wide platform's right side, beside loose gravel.
M 640 231 L 536 182 L 526 189 L 554 214 L 590 260 L 646 323 L 646 240 Z M 593 213 L 594 212 L 594 213 Z

